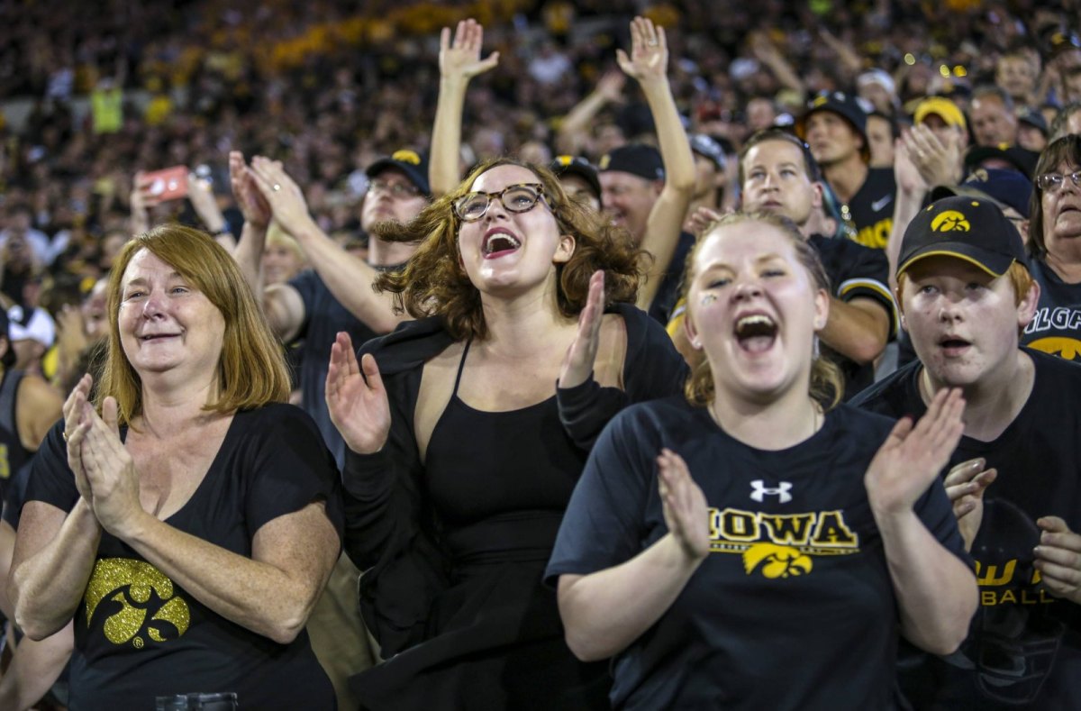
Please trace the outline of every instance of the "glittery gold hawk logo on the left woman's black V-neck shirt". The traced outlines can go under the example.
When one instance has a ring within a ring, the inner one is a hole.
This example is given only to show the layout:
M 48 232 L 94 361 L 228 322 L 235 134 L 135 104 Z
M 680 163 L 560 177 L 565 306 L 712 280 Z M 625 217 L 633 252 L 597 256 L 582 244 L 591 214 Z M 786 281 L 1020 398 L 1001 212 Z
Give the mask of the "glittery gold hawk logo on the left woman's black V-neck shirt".
M 97 561 L 83 601 L 88 627 L 94 614 L 104 611 L 108 615 L 102 627 L 105 638 L 112 644 L 131 641 L 136 649 L 146 644 L 144 636 L 154 642 L 175 640 L 191 623 L 188 603 L 174 593 L 173 581 L 143 561 Z

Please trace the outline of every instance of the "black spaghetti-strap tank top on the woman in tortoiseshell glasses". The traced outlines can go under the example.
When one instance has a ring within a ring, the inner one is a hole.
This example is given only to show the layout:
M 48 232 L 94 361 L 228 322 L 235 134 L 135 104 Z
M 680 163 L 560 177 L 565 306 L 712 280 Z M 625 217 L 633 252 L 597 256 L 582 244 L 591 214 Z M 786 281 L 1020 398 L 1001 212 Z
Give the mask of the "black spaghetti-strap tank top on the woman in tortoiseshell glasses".
M 508 412 L 470 407 L 458 385 L 428 443 L 428 495 L 458 563 L 547 559 L 585 466 L 552 397 Z

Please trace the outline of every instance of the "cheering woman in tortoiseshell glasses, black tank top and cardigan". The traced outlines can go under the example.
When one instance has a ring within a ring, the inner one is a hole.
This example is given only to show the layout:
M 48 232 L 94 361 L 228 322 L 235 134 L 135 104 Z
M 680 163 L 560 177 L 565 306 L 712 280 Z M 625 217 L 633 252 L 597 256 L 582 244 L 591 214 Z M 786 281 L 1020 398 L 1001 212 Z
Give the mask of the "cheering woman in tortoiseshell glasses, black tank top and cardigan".
M 573 658 L 542 574 L 600 428 L 685 375 L 629 306 L 639 254 L 547 169 L 506 158 L 378 236 L 421 242 L 377 283 L 417 321 L 359 363 L 341 335 L 326 381 L 351 451 L 346 549 L 388 659 L 355 678 L 358 695 L 370 709 L 608 708 L 606 667 Z

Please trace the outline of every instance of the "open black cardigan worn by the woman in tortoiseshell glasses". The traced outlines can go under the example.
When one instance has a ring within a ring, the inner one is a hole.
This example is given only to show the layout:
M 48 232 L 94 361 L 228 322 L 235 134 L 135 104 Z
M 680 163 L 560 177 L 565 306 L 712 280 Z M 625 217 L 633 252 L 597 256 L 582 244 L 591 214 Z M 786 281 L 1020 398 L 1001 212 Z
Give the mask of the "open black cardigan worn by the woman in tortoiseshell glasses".
M 682 390 L 688 367 L 664 328 L 633 306 L 610 309 L 627 327 L 624 387 L 602 388 L 590 378 L 557 389 L 560 419 L 572 440 L 592 446 L 604 425 L 635 402 Z M 364 344 L 375 357 L 390 402 L 390 435 L 382 451 L 346 452 L 345 549 L 365 571 L 360 607 L 384 658 L 424 641 L 431 601 L 448 585 L 449 560 L 439 545 L 438 521 L 421 495 L 424 466 L 414 437 L 424 364 L 454 339 L 438 318 L 406 321 L 386 336 Z

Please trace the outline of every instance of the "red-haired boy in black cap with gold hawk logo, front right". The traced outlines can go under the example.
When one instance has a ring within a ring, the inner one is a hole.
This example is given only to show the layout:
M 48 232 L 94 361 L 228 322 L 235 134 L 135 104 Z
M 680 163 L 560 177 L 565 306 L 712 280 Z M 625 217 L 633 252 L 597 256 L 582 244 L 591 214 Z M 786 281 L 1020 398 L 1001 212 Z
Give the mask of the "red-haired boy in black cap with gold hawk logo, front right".
M 1081 368 L 1019 346 L 1040 287 L 989 200 L 945 198 L 905 231 L 902 323 L 919 360 L 853 404 L 920 417 L 964 394 L 964 435 L 943 472 L 980 606 L 947 657 L 900 655 L 916 709 L 1081 708 Z

